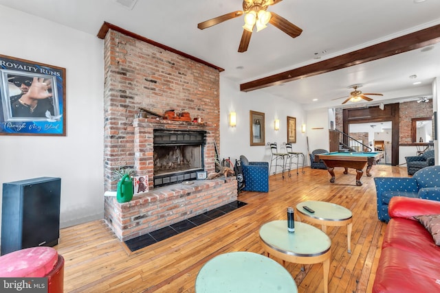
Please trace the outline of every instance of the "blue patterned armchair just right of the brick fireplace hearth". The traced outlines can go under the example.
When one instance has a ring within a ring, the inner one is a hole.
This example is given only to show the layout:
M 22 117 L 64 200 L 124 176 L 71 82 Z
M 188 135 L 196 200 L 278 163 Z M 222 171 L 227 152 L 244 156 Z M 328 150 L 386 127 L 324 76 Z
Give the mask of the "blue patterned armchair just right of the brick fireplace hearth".
M 241 167 L 245 178 L 245 191 L 269 191 L 269 163 L 250 162 L 241 155 Z

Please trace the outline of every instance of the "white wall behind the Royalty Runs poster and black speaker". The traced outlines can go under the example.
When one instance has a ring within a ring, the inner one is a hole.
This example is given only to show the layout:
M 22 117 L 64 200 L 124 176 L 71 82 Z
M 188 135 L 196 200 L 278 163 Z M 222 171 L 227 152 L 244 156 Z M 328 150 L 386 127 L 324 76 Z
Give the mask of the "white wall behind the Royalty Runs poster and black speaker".
M 0 182 L 61 177 L 61 227 L 100 219 L 103 41 L 1 5 L 0 11 L 0 54 L 64 67 L 67 80 L 66 137 L 0 136 Z

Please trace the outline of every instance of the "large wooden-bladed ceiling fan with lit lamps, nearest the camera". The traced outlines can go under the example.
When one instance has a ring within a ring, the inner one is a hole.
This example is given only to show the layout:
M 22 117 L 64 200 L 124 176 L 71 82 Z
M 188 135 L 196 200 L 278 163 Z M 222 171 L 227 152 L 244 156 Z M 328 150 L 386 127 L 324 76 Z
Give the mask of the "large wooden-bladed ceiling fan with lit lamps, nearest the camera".
M 240 53 L 248 50 L 250 37 L 255 26 L 256 31 L 259 32 L 267 27 L 267 23 L 270 23 L 289 36 L 292 36 L 292 38 L 296 38 L 303 30 L 275 12 L 267 11 L 270 5 L 275 5 L 281 1 L 283 0 L 243 0 L 243 11 L 239 10 L 214 17 L 214 19 L 199 23 L 197 27 L 199 27 L 200 30 L 204 30 L 208 27 L 212 27 L 212 25 L 223 23 L 223 21 L 228 21 L 244 14 L 245 25 L 243 25 L 244 30 L 239 45 Z

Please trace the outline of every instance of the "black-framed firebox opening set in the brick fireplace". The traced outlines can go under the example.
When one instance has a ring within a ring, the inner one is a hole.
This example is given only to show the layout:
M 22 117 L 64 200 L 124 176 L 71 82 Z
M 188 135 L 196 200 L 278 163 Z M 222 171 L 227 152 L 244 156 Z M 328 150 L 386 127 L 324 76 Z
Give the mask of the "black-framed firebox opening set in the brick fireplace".
M 195 180 L 203 171 L 204 131 L 154 130 L 154 187 Z

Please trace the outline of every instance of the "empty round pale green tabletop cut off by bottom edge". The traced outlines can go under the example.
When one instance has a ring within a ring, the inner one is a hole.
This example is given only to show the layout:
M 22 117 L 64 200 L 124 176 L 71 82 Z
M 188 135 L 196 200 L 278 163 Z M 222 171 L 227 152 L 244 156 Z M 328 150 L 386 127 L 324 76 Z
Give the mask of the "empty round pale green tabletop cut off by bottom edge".
M 292 275 L 273 259 L 239 251 L 210 259 L 195 280 L 196 293 L 297 293 Z

